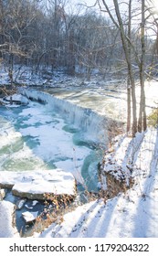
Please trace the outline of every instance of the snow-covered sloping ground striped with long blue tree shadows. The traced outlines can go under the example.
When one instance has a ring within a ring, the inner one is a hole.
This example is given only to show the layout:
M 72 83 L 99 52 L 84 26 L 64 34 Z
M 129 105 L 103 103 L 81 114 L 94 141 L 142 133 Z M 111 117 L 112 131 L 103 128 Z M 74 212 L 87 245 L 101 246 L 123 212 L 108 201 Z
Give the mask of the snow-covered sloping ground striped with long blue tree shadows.
M 113 154 L 119 163 L 134 141 L 124 138 Z M 115 158 L 115 159 L 116 159 Z M 158 133 L 148 130 L 134 151 L 134 186 L 106 202 L 91 201 L 64 215 L 60 225 L 52 224 L 42 238 L 157 238 L 158 237 Z

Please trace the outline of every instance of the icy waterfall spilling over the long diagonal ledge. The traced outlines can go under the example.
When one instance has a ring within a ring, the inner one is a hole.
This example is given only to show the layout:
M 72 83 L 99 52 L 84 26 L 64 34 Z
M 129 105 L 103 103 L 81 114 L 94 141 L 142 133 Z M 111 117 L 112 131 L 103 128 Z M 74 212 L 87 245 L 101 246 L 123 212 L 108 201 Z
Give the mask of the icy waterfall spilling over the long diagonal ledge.
M 30 100 L 47 104 L 49 108 L 58 112 L 68 123 L 72 123 L 79 128 L 87 140 L 97 144 L 107 144 L 108 119 L 105 116 L 89 108 L 83 108 L 70 101 L 59 99 L 44 91 L 21 88 L 20 93 Z

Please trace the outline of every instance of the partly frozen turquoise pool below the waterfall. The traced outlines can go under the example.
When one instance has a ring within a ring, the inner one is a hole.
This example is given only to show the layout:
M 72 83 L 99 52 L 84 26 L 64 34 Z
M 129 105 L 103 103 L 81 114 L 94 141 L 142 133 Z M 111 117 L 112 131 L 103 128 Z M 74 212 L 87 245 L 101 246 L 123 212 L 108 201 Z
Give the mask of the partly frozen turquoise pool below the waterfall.
M 0 171 L 62 168 L 96 190 L 100 146 L 67 123 L 49 104 L 0 107 Z

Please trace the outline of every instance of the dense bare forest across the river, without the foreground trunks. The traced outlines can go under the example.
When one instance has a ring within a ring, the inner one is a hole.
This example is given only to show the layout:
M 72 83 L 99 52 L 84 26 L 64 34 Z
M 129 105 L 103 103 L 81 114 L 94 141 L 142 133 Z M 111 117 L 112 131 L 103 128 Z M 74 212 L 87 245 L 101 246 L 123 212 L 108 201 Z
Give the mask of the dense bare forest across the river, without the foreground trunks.
M 99 1 L 101 2 L 101 1 Z M 128 2 L 128 1 L 127 1 Z M 138 57 L 141 46 L 138 19 L 140 5 L 132 9 L 132 44 Z M 151 22 L 149 20 L 148 27 Z M 123 13 L 123 26 L 128 33 L 129 15 Z M 157 26 L 157 23 L 156 23 Z M 156 26 L 153 36 L 157 35 Z M 157 41 L 146 39 L 147 71 L 155 69 Z M 81 73 L 90 79 L 91 73 L 127 75 L 127 65 L 119 27 L 103 12 L 84 5 L 71 7 L 67 0 L 0 0 L 0 58 L 10 67 L 15 64 L 32 67 L 33 71 L 51 67 L 65 68 L 68 74 Z M 137 63 L 132 56 L 134 72 Z

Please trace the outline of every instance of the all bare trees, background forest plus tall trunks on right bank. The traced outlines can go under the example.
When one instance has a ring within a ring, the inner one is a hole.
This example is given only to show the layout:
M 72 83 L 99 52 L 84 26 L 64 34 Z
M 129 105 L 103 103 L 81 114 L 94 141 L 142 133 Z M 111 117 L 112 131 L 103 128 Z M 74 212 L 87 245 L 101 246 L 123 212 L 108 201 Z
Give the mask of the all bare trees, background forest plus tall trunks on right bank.
M 95 7 L 68 0 L 0 0 L 0 59 L 13 84 L 20 70 L 49 76 L 92 74 L 127 80 L 127 132 L 146 130 L 144 80 L 157 75 L 158 18 L 153 0 L 97 0 Z M 135 83 L 141 99 L 137 113 Z

